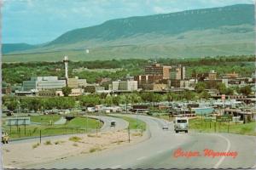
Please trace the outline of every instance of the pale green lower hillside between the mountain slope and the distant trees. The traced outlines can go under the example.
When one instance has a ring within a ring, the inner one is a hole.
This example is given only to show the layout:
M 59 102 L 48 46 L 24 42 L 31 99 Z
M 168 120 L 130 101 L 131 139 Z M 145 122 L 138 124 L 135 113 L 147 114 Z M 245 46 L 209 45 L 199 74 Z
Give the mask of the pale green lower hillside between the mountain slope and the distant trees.
M 240 42 L 218 45 L 130 45 L 123 47 L 92 48 L 90 54 L 84 50 L 67 50 L 42 54 L 3 55 L 3 62 L 61 61 L 64 55 L 72 61 L 107 60 L 107 59 L 152 59 L 191 58 L 217 55 L 253 54 L 253 42 Z

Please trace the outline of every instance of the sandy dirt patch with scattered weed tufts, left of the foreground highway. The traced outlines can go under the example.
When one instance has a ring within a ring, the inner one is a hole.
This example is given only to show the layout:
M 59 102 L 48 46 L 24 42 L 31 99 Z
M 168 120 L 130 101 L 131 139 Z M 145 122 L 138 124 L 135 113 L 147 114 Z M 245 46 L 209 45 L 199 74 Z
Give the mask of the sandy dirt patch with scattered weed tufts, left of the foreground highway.
M 131 133 L 131 142 L 136 142 L 140 137 L 140 135 Z M 35 141 L 4 144 L 3 165 L 4 167 L 26 167 L 64 159 L 68 156 L 91 154 L 121 144 L 128 144 L 128 133 L 125 130 L 114 133 L 97 133 L 97 135 L 96 133 L 76 134 L 73 137 L 42 139 L 41 144 Z

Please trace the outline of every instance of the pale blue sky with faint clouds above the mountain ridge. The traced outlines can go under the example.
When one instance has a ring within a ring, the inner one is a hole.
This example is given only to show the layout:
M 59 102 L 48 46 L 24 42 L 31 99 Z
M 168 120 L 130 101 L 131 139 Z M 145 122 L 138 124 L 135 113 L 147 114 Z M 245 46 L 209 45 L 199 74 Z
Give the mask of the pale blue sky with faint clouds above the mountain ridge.
M 3 0 L 2 42 L 40 44 L 106 20 L 237 3 L 253 0 Z

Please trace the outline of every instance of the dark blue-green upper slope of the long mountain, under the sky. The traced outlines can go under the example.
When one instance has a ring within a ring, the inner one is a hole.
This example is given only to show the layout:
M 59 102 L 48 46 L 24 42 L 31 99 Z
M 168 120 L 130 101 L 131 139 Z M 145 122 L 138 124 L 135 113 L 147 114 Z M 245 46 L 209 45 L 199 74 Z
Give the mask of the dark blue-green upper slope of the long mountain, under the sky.
M 108 20 L 99 26 L 68 31 L 49 42 L 47 46 L 91 39 L 110 41 L 149 33 L 173 36 L 185 31 L 216 29 L 220 26 L 254 25 L 253 10 L 253 5 L 241 4 L 224 8 Z

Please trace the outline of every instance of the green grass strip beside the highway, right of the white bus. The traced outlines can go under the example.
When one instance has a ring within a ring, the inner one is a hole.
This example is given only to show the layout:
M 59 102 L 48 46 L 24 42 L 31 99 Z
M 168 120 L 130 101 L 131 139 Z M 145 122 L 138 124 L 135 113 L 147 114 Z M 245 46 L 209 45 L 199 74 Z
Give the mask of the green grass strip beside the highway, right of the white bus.
M 249 122 L 246 124 L 236 124 L 230 122 L 229 126 L 228 122 L 205 122 L 204 120 L 201 121 L 201 118 L 195 118 L 189 120 L 189 129 L 203 133 L 214 133 L 216 129 L 217 133 L 228 133 L 229 131 L 229 133 L 256 136 L 256 122 Z

